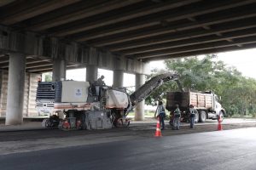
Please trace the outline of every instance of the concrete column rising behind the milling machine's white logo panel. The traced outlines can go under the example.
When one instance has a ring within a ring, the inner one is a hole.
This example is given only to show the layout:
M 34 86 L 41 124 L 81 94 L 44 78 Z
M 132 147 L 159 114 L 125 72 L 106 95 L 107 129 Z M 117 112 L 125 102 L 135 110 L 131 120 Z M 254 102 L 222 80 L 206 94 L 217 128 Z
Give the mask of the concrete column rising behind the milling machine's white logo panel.
M 64 59 L 54 59 L 52 81 L 63 81 L 66 80 L 66 66 L 67 63 Z

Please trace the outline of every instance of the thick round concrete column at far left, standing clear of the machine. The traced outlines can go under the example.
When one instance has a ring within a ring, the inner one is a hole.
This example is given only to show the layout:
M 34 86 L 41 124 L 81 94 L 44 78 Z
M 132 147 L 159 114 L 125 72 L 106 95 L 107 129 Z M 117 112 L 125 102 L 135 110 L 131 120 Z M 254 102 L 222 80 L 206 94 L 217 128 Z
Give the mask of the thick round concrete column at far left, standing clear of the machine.
M 9 54 L 6 125 L 18 125 L 23 122 L 25 71 L 25 54 Z

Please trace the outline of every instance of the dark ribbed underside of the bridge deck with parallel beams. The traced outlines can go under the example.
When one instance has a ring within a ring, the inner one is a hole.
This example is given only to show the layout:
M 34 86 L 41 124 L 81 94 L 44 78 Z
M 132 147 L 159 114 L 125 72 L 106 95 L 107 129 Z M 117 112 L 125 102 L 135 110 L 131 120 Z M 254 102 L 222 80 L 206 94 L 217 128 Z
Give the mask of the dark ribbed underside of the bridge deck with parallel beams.
M 256 0 L 3 0 L 0 24 L 149 61 L 255 48 L 255 8 Z M 8 63 L 2 52 L 0 68 Z M 26 71 L 51 68 L 49 59 L 26 59 Z

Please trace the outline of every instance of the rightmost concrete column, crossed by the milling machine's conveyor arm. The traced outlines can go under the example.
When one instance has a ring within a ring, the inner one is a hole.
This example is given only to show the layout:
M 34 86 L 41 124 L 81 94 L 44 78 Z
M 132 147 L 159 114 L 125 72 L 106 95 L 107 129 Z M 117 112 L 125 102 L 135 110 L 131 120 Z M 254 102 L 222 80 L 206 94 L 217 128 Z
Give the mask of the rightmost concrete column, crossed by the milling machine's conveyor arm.
M 145 83 L 145 75 L 143 75 L 143 74 L 136 74 L 135 79 L 136 79 L 136 81 L 135 81 L 136 89 L 140 88 Z M 144 100 L 137 104 L 137 106 L 135 108 L 135 116 L 134 116 L 135 121 L 143 121 L 144 120 L 144 105 L 145 105 Z

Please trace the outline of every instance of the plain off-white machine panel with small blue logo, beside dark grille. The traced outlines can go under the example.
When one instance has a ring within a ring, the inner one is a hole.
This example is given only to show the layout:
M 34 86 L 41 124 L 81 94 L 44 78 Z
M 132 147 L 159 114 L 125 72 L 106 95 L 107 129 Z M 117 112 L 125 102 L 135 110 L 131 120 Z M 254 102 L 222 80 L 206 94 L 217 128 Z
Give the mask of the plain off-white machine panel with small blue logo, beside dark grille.
M 89 82 L 62 82 L 61 102 L 86 102 L 89 87 Z

